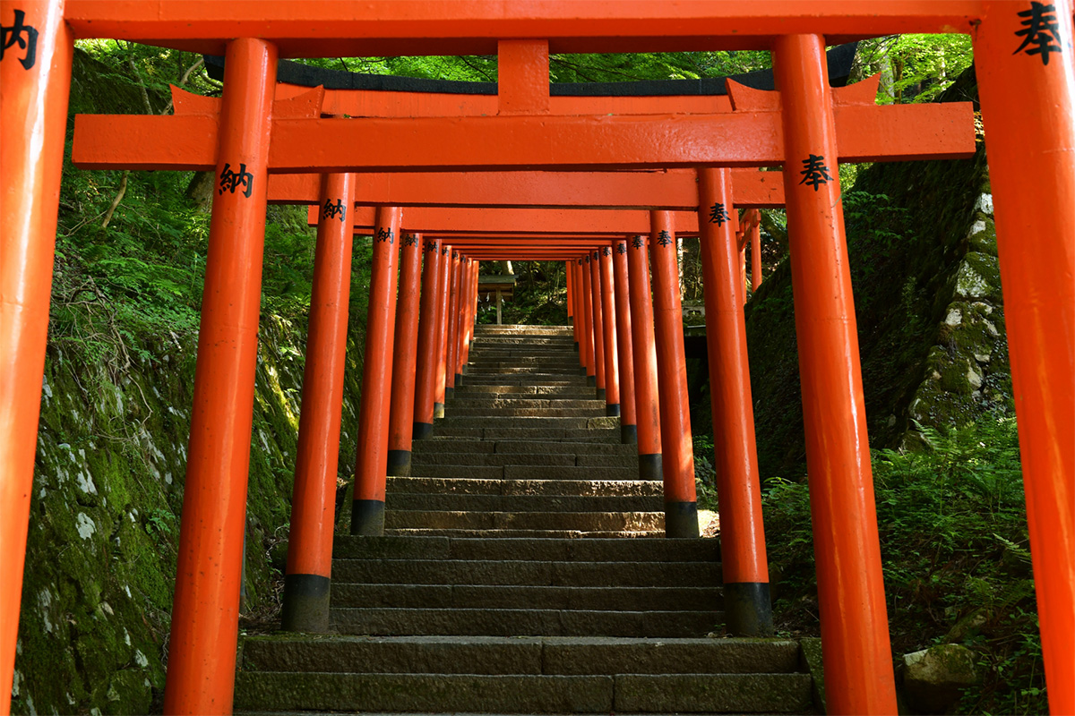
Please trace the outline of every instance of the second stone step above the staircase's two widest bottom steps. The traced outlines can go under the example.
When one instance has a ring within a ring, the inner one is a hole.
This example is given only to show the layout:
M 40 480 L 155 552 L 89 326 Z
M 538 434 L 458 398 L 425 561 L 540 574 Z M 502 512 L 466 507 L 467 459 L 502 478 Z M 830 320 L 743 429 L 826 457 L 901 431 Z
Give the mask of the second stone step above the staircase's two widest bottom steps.
M 713 611 L 719 587 L 533 587 L 450 584 L 334 584 L 332 605 L 395 609 Z

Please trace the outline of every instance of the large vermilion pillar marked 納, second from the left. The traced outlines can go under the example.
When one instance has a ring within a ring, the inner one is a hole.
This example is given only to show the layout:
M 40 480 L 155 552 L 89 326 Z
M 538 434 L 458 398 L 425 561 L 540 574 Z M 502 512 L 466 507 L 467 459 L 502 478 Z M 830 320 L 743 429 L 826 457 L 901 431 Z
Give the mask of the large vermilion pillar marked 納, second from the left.
M 276 47 L 228 43 L 164 713 L 230 714 Z

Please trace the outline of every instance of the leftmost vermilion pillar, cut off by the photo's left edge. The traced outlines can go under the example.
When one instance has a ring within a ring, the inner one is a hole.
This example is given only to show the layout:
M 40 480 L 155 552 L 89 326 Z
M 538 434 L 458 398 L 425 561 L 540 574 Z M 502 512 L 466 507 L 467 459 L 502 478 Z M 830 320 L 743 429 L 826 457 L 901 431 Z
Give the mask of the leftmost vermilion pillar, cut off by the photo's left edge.
M 0 2 L 0 714 L 11 708 L 71 86 L 62 0 Z M 23 29 L 16 31 L 16 28 Z M 30 52 L 30 30 L 34 36 Z M 20 46 L 19 43 L 23 43 Z

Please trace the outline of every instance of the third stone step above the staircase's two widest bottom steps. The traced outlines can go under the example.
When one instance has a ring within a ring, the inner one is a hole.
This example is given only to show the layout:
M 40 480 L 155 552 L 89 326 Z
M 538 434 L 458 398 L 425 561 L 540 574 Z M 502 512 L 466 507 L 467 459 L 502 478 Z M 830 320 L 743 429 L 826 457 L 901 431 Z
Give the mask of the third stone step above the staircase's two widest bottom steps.
M 541 559 L 334 559 L 336 584 L 498 584 L 565 587 L 716 586 L 713 561 L 548 561 Z

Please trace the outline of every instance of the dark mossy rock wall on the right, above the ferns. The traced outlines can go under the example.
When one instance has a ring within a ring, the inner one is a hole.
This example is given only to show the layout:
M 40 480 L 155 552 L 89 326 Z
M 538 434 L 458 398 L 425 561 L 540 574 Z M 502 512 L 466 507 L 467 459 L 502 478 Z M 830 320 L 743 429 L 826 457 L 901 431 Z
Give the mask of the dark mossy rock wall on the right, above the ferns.
M 948 97 L 974 94 L 972 71 Z M 944 427 L 1009 411 L 985 146 L 965 160 L 874 164 L 845 190 L 871 445 L 914 440 L 913 421 Z M 806 451 L 787 262 L 747 304 L 746 325 L 761 476 L 798 478 Z

